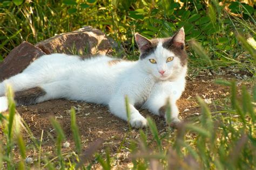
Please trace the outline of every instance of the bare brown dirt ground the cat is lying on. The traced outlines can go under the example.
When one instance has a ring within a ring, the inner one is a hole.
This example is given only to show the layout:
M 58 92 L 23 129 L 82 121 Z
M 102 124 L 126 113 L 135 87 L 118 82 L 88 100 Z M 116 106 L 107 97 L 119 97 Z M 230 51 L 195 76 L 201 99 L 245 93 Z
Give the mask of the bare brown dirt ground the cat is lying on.
M 210 104 L 211 111 L 223 109 L 223 106 L 218 105 L 218 100 L 226 98 L 230 95 L 230 90 L 227 87 L 219 86 L 213 83 L 214 79 L 219 76 L 198 76 L 197 78 L 187 78 L 186 89 L 178 101 L 180 117 L 184 120 L 192 116 L 200 115 L 200 107 L 197 103 L 196 96 L 200 96 Z M 220 76 L 221 77 L 221 76 Z M 222 76 L 223 77 L 223 76 Z M 234 76 L 225 76 L 225 79 L 235 78 Z M 82 139 L 83 149 L 98 138 L 104 139 L 104 146 L 109 146 L 112 153 L 120 150 L 122 141 L 126 138 L 126 133 L 129 126 L 125 121 L 113 116 L 107 107 L 98 104 L 85 102 L 76 102 L 68 100 L 52 100 L 30 106 L 17 107 L 18 113 L 24 121 L 29 125 L 34 136 L 39 140 L 42 130 L 44 131 L 42 151 L 44 153 L 55 153 L 55 143 L 51 136 L 56 137 L 55 130 L 49 121 L 50 117 L 55 117 L 63 127 L 66 134 L 66 140 L 69 141 L 70 147 L 63 148 L 64 152 L 70 152 L 74 148 L 72 132 L 70 129 L 70 108 L 75 107 L 77 124 Z M 140 110 L 142 115 L 151 116 L 157 124 L 158 130 L 164 131 L 166 124 L 163 118 L 149 114 L 147 110 Z M 129 133 L 129 138 L 137 139 L 139 137 L 138 130 L 133 129 Z M 0 131 L 0 139 L 3 134 Z M 24 138 L 27 145 L 31 144 L 29 135 L 24 133 Z M 124 144 L 125 145 L 125 144 Z M 28 151 L 28 156 L 36 157 L 36 151 L 32 149 Z M 100 152 L 100 151 L 99 151 Z M 124 155 L 124 162 L 128 162 L 127 155 Z M 122 164 L 122 163 L 120 163 Z

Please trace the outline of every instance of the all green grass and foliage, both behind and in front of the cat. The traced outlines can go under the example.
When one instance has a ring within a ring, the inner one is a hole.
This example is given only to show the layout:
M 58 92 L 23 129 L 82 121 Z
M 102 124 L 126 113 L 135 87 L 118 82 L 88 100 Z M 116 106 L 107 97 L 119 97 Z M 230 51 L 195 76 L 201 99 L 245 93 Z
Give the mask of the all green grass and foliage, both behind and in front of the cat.
M 83 25 L 102 30 L 125 47 L 127 59 L 137 60 L 138 49 L 133 39 L 135 32 L 149 38 L 167 37 L 184 26 L 190 70 L 237 66 L 251 73 L 255 82 L 256 52 L 252 46 L 255 46 L 256 38 L 256 11 L 240 2 L 226 3 L 221 6 L 218 1 L 208 4 L 184 1 L 183 5 L 167 0 L 0 1 L 0 60 L 24 40 L 36 44 L 55 34 L 77 30 Z M 225 6 L 229 11 L 225 10 Z M 252 37 L 252 42 L 247 41 L 248 37 Z M 218 101 L 225 105 L 225 110 L 211 112 L 198 97 L 201 116 L 193 118 L 193 121 L 180 124 L 177 130 L 167 126 L 166 131 L 160 133 L 153 119 L 147 118 L 149 128 L 139 131 L 139 140 L 122 141 L 119 151 L 124 143 L 130 143 L 127 149 L 131 152 L 133 169 L 256 168 L 255 83 L 251 91 L 246 87 L 239 91 L 235 82 L 217 80 L 215 83 L 228 86 L 232 91 L 230 98 Z M 52 118 L 51 124 L 56 131 L 52 140 L 55 141 L 56 151 L 53 155 L 42 152 L 44 132 L 41 139 L 33 136 L 29 126 L 15 112 L 11 88 L 8 90 L 8 100 L 9 114 L 0 114 L 0 129 L 4 134 L 0 141 L 0 168 L 91 169 L 93 164 L 98 163 L 103 169 L 111 169 L 114 160 L 118 159 L 107 148 L 105 154 L 97 153 L 102 140 L 95 141 L 83 150 L 73 109 L 71 131 L 74 151 L 63 152 L 65 133 Z M 129 109 L 127 115 L 130 115 Z M 33 164 L 29 164 L 26 157 L 28 145 L 23 139 L 24 133 L 28 134 L 31 147 L 38 153 Z M 130 133 L 131 128 L 125 136 Z M 19 159 L 15 159 L 16 146 Z

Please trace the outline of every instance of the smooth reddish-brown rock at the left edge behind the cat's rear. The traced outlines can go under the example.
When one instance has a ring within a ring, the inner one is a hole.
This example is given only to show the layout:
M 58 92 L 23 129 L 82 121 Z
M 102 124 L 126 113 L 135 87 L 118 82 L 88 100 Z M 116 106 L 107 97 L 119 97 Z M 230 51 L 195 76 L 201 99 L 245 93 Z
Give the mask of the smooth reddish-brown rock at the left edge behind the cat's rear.
M 16 75 L 24 70 L 28 65 L 45 53 L 29 42 L 22 42 L 6 56 L 0 63 L 0 82 L 10 76 Z

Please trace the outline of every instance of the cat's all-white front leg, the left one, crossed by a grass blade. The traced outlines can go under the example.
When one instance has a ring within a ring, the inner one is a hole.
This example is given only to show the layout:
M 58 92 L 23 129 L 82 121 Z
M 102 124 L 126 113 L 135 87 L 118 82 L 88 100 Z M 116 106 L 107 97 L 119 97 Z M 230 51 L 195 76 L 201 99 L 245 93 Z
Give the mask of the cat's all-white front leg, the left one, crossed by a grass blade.
M 124 119 L 125 121 L 128 121 L 124 97 L 114 97 L 109 103 L 109 109 L 112 114 Z M 144 128 L 147 125 L 147 120 L 140 115 L 136 108 L 134 108 L 132 102 L 129 103 L 129 109 L 131 126 L 133 128 Z

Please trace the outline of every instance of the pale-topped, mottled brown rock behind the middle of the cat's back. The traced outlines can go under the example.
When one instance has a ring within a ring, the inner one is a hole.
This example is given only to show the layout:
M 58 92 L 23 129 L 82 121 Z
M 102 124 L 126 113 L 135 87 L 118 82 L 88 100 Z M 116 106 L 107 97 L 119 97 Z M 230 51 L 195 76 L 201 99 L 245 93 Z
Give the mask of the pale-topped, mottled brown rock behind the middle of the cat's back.
M 36 44 L 46 54 L 65 53 L 80 56 L 111 54 L 112 47 L 105 34 L 91 26 L 59 34 Z

